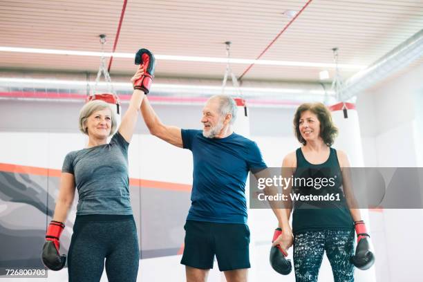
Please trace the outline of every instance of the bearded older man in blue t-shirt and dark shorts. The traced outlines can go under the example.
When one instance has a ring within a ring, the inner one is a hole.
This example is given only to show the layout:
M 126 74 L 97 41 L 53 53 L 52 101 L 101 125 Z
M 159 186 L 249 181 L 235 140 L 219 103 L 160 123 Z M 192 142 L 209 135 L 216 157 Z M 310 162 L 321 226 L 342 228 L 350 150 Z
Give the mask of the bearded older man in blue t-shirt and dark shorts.
M 247 281 L 250 267 L 245 181 L 248 171 L 266 168 L 257 144 L 234 133 L 235 101 L 227 95 L 211 97 L 203 108 L 203 130 L 162 124 L 147 97 L 142 116 L 151 134 L 192 151 L 194 160 L 191 208 L 185 224 L 181 263 L 187 281 L 205 281 L 214 255 L 228 282 Z M 276 214 L 281 221 L 281 213 Z

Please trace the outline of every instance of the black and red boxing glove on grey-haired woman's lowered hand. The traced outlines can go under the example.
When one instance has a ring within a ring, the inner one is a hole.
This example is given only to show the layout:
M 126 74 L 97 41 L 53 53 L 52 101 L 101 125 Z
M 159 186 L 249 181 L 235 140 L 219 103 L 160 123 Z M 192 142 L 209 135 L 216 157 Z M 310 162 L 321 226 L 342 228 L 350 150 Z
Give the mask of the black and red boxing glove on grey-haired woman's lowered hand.
M 60 223 L 59 221 L 51 220 L 50 225 L 48 225 L 46 243 L 43 246 L 41 259 L 44 265 L 50 270 L 61 270 L 66 263 L 66 256 L 59 254 L 59 238 L 63 229 L 64 223 Z

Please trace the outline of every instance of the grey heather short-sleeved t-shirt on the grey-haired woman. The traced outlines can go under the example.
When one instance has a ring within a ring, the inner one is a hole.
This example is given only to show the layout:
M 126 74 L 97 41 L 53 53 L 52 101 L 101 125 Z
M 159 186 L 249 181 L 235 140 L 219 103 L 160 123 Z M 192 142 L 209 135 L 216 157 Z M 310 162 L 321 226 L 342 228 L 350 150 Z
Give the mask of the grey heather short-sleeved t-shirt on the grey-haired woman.
M 62 171 L 72 173 L 78 189 L 77 215 L 132 214 L 129 200 L 128 147 L 119 132 L 109 144 L 65 157 Z

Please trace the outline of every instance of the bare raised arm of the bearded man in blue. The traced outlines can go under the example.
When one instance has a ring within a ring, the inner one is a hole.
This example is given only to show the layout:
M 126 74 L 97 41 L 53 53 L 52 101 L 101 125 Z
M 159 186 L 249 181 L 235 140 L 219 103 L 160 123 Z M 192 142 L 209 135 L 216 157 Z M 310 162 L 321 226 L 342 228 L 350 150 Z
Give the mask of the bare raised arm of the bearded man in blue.
M 141 104 L 141 113 L 151 134 L 176 147 L 182 148 L 182 133 L 180 128 L 164 125 L 151 107 L 147 96 L 144 97 L 144 102 Z

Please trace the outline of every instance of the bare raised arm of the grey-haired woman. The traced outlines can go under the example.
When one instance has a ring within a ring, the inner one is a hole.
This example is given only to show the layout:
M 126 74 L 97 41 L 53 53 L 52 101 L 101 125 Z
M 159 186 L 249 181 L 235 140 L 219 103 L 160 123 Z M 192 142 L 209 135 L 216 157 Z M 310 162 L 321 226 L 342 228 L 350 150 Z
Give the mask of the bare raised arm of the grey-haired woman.
M 143 66 L 140 65 L 138 71 L 131 78 L 131 82 L 134 85 L 135 81 L 140 79 L 144 75 Z M 131 142 L 133 131 L 135 130 L 135 125 L 138 120 L 138 112 L 140 111 L 140 106 L 142 99 L 144 98 L 144 92 L 141 89 L 135 89 L 132 93 L 131 101 L 129 102 L 128 110 L 124 113 L 122 122 L 119 126 L 119 133 L 126 140 L 126 142 Z

